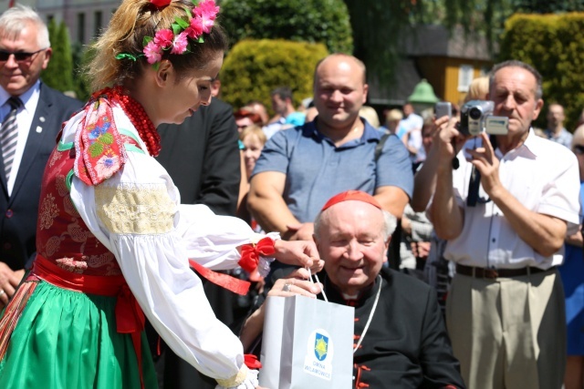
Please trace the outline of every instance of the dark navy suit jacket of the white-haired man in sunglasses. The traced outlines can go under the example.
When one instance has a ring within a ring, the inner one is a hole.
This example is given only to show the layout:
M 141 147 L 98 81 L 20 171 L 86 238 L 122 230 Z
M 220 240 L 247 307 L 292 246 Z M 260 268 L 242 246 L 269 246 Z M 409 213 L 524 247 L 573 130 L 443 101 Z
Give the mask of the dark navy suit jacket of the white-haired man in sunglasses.
M 41 83 L 35 117 L 10 197 L 5 175 L 0 174 L 0 261 L 13 270 L 23 269 L 36 252 L 38 199 L 45 165 L 57 144 L 62 123 L 82 106 L 80 101 Z M 1 155 L 0 171 L 4 171 Z

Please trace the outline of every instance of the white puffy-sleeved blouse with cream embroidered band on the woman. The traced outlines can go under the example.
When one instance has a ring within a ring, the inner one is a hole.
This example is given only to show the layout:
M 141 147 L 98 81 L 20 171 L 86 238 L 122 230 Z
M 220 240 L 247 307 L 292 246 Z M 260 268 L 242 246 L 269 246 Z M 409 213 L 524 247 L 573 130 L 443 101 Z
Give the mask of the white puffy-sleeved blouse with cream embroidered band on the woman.
M 62 142 L 74 141 L 82 116 L 69 120 Z M 114 253 L 131 292 L 172 351 L 221 384 L 253 388 L 256 373 L 245 367 L 242 344 L 215 317 L 188 259 L 214 270 L 233 269 L 238 246 L 263 236 L 244 220 L 182 205 L 172 179 L 119 107 L 114 118 L 118 130 L 130 131 L 144 151 L 127 148 L 123 168 L 97 186 L 75 177 L 71 199 L 89 230 Z M 243 384 L 233 384 L 245 376 Z

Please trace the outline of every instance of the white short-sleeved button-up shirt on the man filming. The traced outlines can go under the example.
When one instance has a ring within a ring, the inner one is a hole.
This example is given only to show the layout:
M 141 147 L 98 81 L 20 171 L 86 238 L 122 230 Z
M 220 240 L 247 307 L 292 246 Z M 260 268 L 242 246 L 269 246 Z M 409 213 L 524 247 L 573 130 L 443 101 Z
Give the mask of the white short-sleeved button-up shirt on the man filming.
M 568 149 L 529 131 L 525 143 L 500 160 L 499 178 L 503 186 L 527 210 L 568 222 L 568 232 L 579 224 L 579 167 L 576 156 Z M 461 235 L 448 241 L 444 257 L 466 266 L 516 269 L 527 266 L 548 269 L 563 261 L 563 249 L 549 257 L 538 254 L 507 222 L 503 212 L 479 190 L 475 207 L 466 206 L 472 164 L 458 155 L 460 168 L 454 170 L 454 193 L 464 207 Z M 485 202 L 486 201 L 486 202 Z

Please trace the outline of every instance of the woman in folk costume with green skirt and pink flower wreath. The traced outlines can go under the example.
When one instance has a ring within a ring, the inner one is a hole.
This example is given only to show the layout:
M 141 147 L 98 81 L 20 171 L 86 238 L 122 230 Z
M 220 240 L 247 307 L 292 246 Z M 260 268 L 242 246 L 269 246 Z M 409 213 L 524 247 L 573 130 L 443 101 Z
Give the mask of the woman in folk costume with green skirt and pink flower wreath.
M 268 257 L 317 268 L 316 248 L 181 205 L 153 158 L 156 126 L 210 102 L 226 48 L 218 10 L 213 0 L 124 0 L 99 38 L 89 69 L 102 89 L 49 158 L 37 257 L 0 321 L 0 387 L 156 387 L 144 314 L 219 387 L 257 385 L 188 259 L 205 269 L 266 271 Z

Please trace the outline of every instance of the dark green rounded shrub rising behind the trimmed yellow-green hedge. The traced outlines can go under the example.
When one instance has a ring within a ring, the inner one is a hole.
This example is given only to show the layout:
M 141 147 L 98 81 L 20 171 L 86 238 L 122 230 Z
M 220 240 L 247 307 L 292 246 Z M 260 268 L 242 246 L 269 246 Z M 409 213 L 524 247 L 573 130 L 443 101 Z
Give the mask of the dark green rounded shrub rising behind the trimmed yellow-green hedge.
M 343 0 L 223 0 L 220 15 L 235 43 L 246 38 L 286 39 L 323 43 L 330 52 L 352 54 Z

